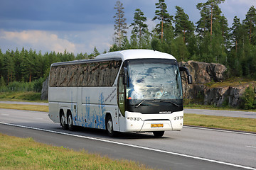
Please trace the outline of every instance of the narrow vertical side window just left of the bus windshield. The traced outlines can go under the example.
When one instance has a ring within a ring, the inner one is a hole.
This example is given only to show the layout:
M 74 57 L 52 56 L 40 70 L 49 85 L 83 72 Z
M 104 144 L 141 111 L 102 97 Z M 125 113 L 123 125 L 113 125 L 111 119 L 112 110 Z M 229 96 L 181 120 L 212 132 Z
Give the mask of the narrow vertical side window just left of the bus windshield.
M 121 70 L 119 74 L 119 81 L 118 81 L 118 106 L 119 110 L 121 111 L 122 115 L 124 116 L 124 111 L 125 111 L 125 95 L 124 95 L 124 74 L 122 74 L 123 69 Z

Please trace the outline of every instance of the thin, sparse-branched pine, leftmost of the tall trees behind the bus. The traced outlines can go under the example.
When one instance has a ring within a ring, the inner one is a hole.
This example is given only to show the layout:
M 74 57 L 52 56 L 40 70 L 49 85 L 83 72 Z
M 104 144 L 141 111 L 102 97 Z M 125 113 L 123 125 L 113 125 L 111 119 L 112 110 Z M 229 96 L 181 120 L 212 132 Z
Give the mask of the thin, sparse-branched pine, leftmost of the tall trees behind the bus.
M 114 9 L 117 10 L 115 13 L 114 20 L 114 43 L 118 45 L 119 48 L 122 47 L 122 42 L 126 38 L 127 34 L 127 23 L 126 18 L 124 18 L 124 7 L 120 1 L 114 5 Z

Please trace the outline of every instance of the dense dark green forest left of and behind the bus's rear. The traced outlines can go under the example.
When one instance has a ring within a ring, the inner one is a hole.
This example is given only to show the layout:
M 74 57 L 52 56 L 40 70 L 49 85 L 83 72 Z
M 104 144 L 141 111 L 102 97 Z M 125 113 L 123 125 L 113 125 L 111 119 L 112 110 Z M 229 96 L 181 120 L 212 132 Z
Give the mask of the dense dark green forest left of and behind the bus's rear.
M 46 52 L 44 55 L 41 51 L 16 49 L 7 50 L 2 53 L 0 49 L 0 86 L 9 85 L 13 81 L 31 82 L 40 78 L 46 79 L 50 71 L 50 64 L 54 62 L 67 62 L 71 60 L 90 59 L 100 55 L 97 48 L 87 55 L 79 53 L 74 55 L 67 52 Z

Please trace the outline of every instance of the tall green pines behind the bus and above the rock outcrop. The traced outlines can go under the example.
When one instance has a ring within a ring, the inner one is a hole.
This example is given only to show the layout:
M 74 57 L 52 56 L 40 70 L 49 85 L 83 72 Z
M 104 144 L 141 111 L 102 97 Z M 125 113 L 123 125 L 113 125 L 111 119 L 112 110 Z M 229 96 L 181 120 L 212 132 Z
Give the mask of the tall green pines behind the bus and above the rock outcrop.
M 256 78 L 256 9 L 249 8 L 245 19 L 233 18 L 232 26 L 219 7 L 225 0 L 208 0 L 196 8 L 201 18 L 196 23 L 180 6 L 174 16 L 169 15 L 164 0 L 156 5 L 156 28 L 149 32 L 141 9 L 134 12 L 131 37 L 127 38 L 124 7 L 117 1 L 114 9 L 114 45 L 110 51 L 146 48 L 167 52 L 180 61 L 196 60 L 225 64 L 231 76 Z M 121 14 L 121 15 L 120 15 Z

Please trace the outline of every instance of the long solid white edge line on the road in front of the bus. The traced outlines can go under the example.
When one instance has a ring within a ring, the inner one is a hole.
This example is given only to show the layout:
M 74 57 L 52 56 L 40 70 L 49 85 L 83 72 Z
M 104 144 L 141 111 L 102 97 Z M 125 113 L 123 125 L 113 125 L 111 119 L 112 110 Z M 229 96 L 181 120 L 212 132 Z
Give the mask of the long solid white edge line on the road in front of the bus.
M 68 135 L 68 136 L 73 136 L 73 137 L 80 137 L 80 138 L 84 138 L 84 139 L 88 139 L 88 140 L 96 140 L 96 141 L 100 141 L 100 142 L 108 142 L 108 143 L 112 143 L 112 144 L 117 144 L 117 145 L 123 145 L 123 146 L 127 146 L 127 147 L 135 147 L 135 148 L 139 148 L 139 149 L 146 149 L 146 150 L 150 150 L 150 151 L 154 151 L 154 152 L 161 152 L 161 153 L 166 153 L 166 154 L 174 154 L 174 155 L 178 155 L 181 157 L 188 157 L 188 158 L 193 158 L 193 159 L 199 159 L 199 160 L 203 160 L 206 162 L 213 162 L 213 163 L 218 163 L 218 164 L 225 164 L 225 165 L 229 165 L 229 166 L 235 166 L 238 168 L 243 168 L 243 169 L 252 169 L 252 170 L 256 170 L 256 168 L 252 168 L 250 166 L 242 166 L 239 164 L 232 164 L 232 163 L 228 163 L 228 162 L 221 162 L 221 161 L 217 161 L 214 159 L 207 159 L 207 158 L 203 158 L 203 157 L 195 157 L 195 156 L 191 156 L 188 154 L 179 154 L 176 152 L 169 152 L 169 151 L 165 151 L 165 150 L 161 150 L 161 149 L 154 149 L 154 148 L 150 148 L 150 147 L 142 147 L 142 146 L 138 146 L 138 145 L 131 145 L 131 144 L 126 144 L 126 143 L 122 143 L 122 142 L 115 142 L 115 141 L 111 141 L 111 140 L 103 140 L 100 138 L 95 138 L 95 137 L 86 137 L 86 136 L 81 136 L 81 135 L 74 135 L 74 134 L 70 134 L 70 133 L 66 133 L 66 132 L 58 132 L 58 131 L 53 131 L 53 130 L 46 130 L 46 129 L 41 129 L 41 128 L 33 128 L 33 127 L 28 127 L 28 126 L 23 126 L 23 125 L 15 125 L 15 124 L 11 124 L 11 123 L 1 123 L 2 125 L 11 125 L 11 126 L 15 126 L 15 127 L 19 127 L 19 128 L 28 128 L 28 129 L 32 129 L 32 130 L 41 130 L 44 132 L 53 132 L 56 134 L 60 134 L 60 135 Z

